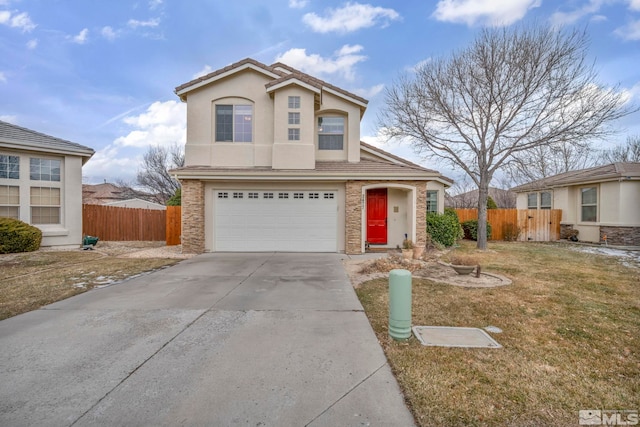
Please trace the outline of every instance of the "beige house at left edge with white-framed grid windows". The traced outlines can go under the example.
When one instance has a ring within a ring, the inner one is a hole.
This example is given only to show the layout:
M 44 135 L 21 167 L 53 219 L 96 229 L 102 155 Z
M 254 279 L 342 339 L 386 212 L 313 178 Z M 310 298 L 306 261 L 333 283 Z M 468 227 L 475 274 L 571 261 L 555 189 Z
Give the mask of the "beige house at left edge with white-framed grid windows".
M 0 121 L 0 216 L 42 230 L 42 246 L 82 243 L 82 165 L 94 151 Z

